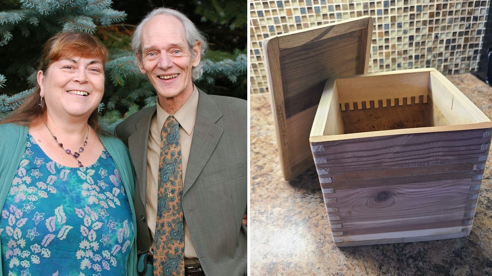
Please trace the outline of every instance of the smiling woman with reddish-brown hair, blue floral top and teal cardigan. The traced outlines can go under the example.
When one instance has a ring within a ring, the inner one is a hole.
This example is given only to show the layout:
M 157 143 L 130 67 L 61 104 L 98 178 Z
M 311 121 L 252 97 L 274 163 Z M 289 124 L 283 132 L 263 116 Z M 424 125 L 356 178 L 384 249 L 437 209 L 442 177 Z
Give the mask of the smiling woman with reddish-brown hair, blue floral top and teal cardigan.
M 0 275 L 136 273 L 128 149 L 95 111 L 107 60 L 91 34 L 56 34 L 34 92 L 0 124 Z

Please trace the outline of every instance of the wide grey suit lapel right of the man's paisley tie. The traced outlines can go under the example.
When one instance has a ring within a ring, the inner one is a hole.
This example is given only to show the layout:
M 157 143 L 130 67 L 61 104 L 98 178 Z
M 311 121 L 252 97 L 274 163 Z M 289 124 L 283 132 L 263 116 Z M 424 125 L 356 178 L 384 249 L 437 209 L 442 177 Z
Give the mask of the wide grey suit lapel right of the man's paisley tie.
M 215 150 L 223 129 L 215 122 L 222 117 L 222 112 L 212 97 L 199 89 L 198 109 L 193 130 L 193 139 L 189 151 L 186 175 L 184 177 L 183 195 L 198 178 Z

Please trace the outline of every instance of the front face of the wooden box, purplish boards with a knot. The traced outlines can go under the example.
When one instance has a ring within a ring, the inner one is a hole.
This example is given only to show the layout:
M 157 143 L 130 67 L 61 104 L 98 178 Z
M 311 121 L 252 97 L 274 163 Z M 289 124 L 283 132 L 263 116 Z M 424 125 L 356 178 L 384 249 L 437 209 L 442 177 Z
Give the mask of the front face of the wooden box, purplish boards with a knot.
M 336 245 L 468 235 L 490 141 L 478 129 L 311 143 Z

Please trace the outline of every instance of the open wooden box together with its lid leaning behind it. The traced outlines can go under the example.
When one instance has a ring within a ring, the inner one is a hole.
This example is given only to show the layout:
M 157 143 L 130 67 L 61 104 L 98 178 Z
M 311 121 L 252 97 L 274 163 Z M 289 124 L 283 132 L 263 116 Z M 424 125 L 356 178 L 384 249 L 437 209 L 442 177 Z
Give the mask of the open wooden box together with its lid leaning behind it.
M 492 122 L 434 69 L 366 74 L 371 33 L 263 41 L 284 177 L 315 164 L 337 246 L 467 236 Z

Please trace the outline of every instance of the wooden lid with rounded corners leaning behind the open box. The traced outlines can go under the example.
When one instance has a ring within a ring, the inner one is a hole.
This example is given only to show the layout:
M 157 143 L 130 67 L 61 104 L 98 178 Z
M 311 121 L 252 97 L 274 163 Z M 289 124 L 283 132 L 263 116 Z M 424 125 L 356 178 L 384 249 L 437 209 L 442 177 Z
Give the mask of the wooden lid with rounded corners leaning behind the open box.
M 367 73 L 372 25 L 366 16 L 263 40 L 285 180 L 314 165 L 309 133 L 326 80 Z

